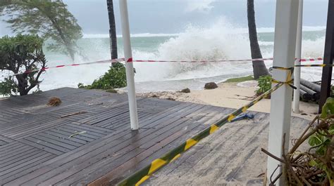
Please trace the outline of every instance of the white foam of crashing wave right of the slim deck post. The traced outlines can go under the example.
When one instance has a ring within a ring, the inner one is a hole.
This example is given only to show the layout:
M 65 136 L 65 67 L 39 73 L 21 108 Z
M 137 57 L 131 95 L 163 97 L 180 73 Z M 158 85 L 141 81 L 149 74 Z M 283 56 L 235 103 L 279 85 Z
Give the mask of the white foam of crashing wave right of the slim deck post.
M 271 28 L 261 29 L 268 32 Z M 323 27 L 304 27 L 307 31 L 322 30 Z M 235 34 L 235 27 L 225 20 L 219 20 L 211 27 L 188 26 L 185 32 L 161 44 L 156 53 L 135 51 L 137 59 L 157 60 L 221 60 L 250 58 L 247 34 Z M 264 58 L 273 56 L 273 41 L 259 41 Z M 303 41 L 302 58 L 323 56 L 324 37 Z M 266 62 L 271 67 L 271 62 Z M 170 63 L 136 64 L 137 81 L 199 79 L 204 77 L 252 74 L 250 62 L 218 63 Z M 302 77 L 310 80 L 321 78 L 319 68 L 305 68 Z

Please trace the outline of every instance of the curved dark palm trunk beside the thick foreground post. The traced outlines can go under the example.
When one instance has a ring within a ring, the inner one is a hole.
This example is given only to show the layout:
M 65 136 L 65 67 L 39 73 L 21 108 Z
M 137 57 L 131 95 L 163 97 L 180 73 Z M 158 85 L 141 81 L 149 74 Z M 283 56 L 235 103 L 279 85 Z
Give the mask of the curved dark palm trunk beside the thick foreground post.
M 262 58 L 259 41 L 257 41 L 254 0 L 247 0 L 247 20 L 252 59 Z M 264 65 L 263 60 L 256 60 L 252 63 L 254 79 L 259 79 L 261 76 L 269 75 L 268 69 L 266 68 L 266 65 Z

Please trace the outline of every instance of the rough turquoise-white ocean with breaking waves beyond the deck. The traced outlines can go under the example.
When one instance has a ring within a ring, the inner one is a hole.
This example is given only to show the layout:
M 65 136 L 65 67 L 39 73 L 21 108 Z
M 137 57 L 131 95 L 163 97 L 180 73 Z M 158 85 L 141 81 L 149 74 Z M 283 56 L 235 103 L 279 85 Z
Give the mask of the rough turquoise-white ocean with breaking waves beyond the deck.
M 273 57 L 273 28 L 259 28 L 259 44 L 264 58 Z M 81 55 L 75 63 L 108 60 L 110 58 L 108 34 L 85 34 L 78 41 Z M 323 57 L 324 27 L 304 27 L 302 58 Z M 224 60 L 249 59 L 247 29 L 226 25 L 214 27 L 187 27 L 180 34 L 132 34 L 132 53 L 135 60 Z M 48 66 L 71 64 L 66 55 L 47 51 Z M 118 57 L 123 58 L 123 41 L 118 37 Z M 271 67 L 267 61 L 266 66 Z M 178 91 L 183 88 L 198 90 L 209 81 L 221 82 L 233 77 L 252 74 L 251 62 L 211 63 L 135 63 L 137 92 Z M 109 69 L 109 64 L 85 65 L 49 69 L 42 75 L 42 91 L 60 87 L 78 87 L 79 83 L 92 84 Z M 320 67 L 302 69 L 302 78 L 321 79 Z M 6 74 L 2 72 L 2 74 Z

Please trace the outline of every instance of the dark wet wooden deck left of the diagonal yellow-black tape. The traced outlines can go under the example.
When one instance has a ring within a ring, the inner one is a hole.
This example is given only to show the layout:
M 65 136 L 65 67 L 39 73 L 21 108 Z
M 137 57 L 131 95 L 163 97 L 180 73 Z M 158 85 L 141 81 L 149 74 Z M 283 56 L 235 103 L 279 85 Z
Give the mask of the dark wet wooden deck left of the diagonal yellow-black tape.
M 47 106 L 54 96 L 62 104 Z M 113 185 L 232 111 L 154 98 L 137 105 L 141 128 L 131 131 L 125 94 L 60 88 L 1 100 L 0 185 Z M 63 117 L 75 112 L 85 113 Z

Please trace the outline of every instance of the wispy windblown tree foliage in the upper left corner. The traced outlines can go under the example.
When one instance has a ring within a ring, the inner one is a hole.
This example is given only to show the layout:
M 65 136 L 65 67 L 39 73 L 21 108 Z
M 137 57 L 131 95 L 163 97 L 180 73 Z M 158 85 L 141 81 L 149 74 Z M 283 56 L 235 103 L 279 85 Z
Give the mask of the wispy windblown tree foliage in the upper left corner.
M 1 1 L 0 15 L 15 33 L 51 39 L 47 46 L 51 51 L 65 53 L 72 60 L 79 51 L 76 42 L 82 38 L 82 29 L 61 0 Z

